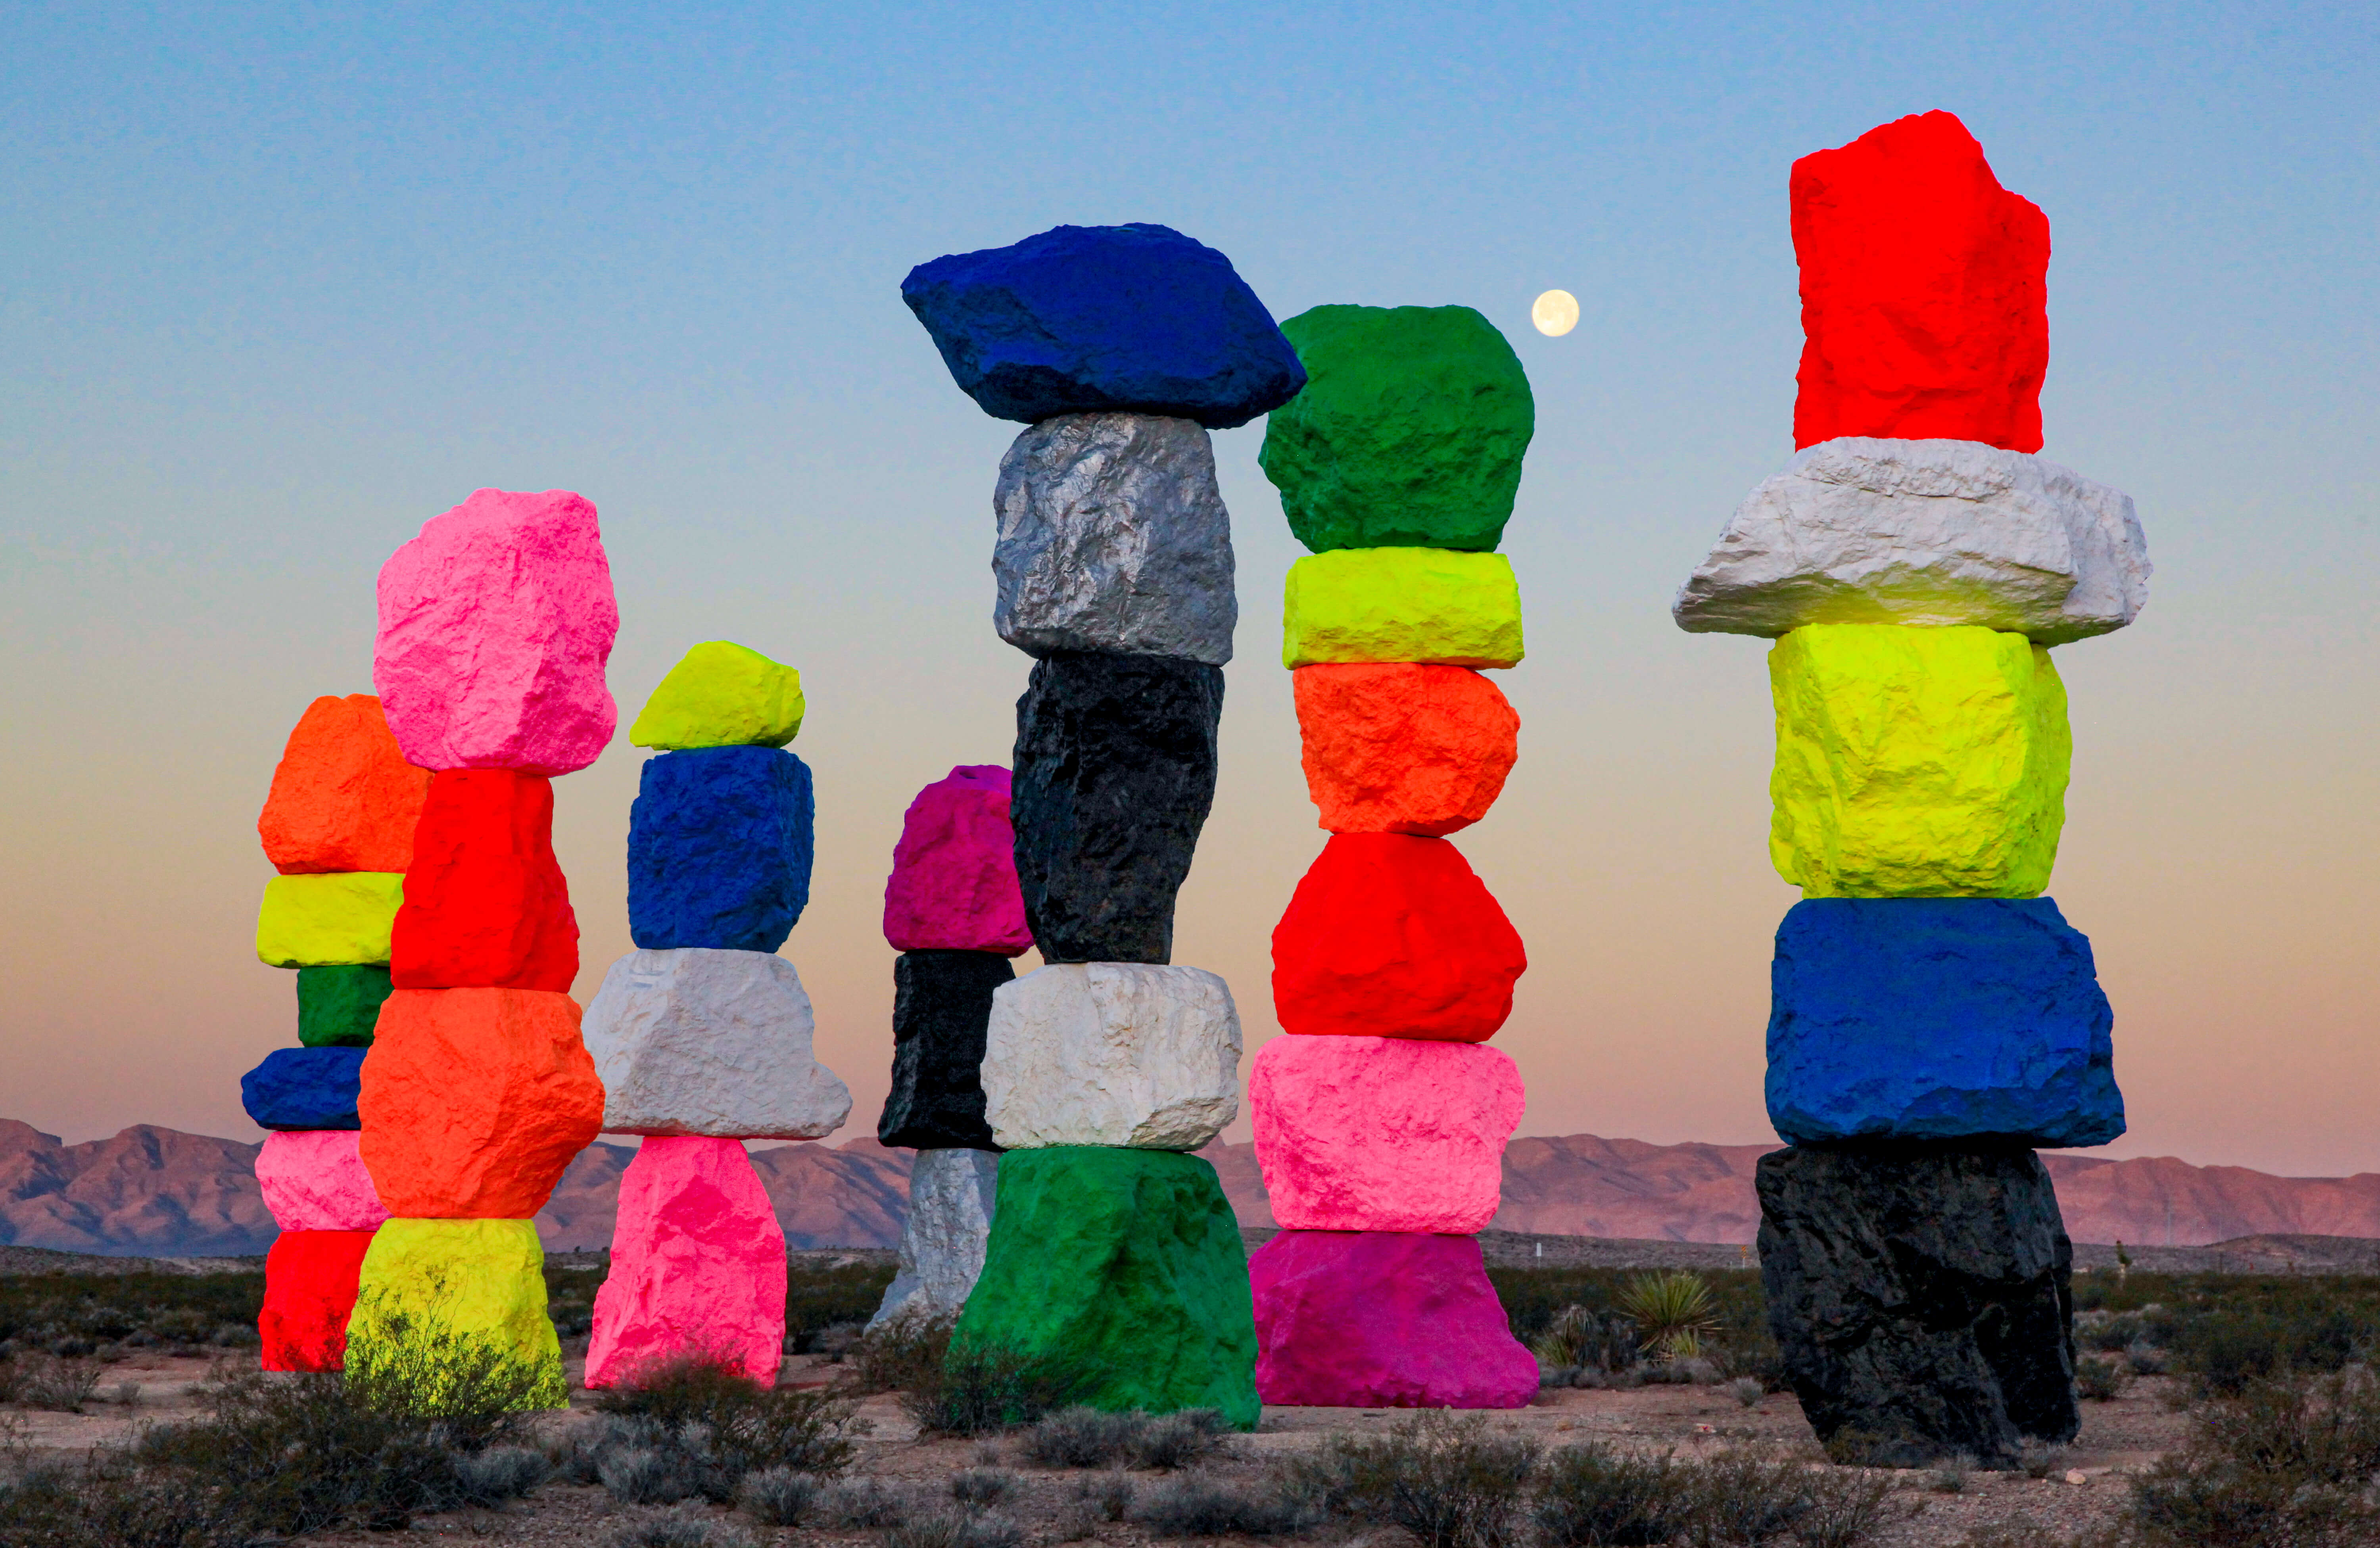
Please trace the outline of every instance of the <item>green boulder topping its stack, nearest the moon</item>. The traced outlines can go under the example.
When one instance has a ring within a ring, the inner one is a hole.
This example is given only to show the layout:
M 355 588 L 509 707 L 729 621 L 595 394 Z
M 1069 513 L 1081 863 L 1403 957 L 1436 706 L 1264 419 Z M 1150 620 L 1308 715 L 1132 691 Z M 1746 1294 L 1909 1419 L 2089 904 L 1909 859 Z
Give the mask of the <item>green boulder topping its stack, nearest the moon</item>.
M 1257 460 L 1299 543 L 1502 541 L 1537 405 L 1495 324 L 1471 307 L 1314 307 L 1280 333 L 1307 391 L 1273 410 Z

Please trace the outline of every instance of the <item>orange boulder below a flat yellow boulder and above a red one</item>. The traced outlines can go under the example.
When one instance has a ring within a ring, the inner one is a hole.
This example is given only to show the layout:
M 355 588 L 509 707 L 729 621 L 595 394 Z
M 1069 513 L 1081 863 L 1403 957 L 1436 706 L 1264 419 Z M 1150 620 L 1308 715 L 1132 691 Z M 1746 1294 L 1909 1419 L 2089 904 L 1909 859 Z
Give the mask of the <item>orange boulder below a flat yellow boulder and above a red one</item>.
M 1333 834 L 1430 834 L 1488 814 L 1521 755 L 1521 717 L 1468 667 L 1299 667 L 1307 793 Z

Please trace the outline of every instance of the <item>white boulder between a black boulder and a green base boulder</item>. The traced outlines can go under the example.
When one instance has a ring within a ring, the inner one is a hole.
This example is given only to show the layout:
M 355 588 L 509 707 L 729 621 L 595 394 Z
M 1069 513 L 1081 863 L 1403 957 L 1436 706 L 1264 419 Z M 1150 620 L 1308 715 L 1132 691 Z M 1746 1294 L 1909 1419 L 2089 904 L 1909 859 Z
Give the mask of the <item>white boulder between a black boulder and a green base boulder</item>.
M 1002 1150 L 1197 1150 L 1240 1112 L 1240 1012 L 1197 967 L 1042 967 L 992 993 L 985 1043 Z

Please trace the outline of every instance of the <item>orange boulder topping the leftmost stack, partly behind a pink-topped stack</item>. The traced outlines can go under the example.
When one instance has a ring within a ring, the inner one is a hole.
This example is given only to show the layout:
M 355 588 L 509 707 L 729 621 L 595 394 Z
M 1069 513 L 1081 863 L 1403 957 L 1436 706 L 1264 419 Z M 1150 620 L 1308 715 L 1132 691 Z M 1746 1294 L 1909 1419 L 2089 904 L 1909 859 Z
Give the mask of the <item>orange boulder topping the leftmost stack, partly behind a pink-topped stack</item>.
M 381 700 L 324 695 L 281 750 L 257 838 L 283 876 L 402 872 L 428 788 L 431 772 L 405 762 Z

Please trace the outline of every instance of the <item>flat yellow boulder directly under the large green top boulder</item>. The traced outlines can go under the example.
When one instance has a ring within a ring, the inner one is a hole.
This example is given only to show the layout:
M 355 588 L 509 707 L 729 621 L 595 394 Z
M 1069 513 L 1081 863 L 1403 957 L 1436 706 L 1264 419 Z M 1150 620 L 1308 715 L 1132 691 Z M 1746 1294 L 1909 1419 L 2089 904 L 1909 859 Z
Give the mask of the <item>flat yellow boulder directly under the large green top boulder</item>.
M 1521 586 L 1499 553 L 1333 548 L 1290 564 L 1280 664 L 1521 660 Z

